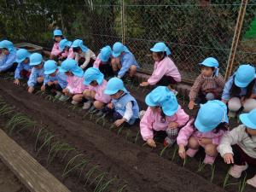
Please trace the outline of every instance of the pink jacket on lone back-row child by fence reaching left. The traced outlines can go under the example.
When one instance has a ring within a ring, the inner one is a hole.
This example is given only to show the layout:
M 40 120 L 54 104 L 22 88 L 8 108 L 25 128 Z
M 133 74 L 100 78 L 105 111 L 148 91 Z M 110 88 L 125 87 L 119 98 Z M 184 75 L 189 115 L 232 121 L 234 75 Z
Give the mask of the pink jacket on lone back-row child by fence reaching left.
M 154 72 L 148 79 L 148 84 L 157 84 L 164 75 L 171 76 L 177 82 L 181 81 L 181 75 L 178 72 L 176 65 L 168 56 L 160 62 L 154 62 Z

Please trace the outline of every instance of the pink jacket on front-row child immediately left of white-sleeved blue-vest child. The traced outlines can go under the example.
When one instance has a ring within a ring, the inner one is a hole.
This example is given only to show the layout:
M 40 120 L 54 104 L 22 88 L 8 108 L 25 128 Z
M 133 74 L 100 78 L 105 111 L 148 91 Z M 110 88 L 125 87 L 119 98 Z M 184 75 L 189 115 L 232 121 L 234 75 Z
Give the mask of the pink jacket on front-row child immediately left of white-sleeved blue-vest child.
M 108 81 L 103 79 L 102 84 L 99 84 L 96 87 L 89 86 L 89 90 L 96 91 L 95 100 L 97 100 L 99 102 L 104 102 L 104 103 L 110 102 L 111 97 L 106 95 L 106 94 L 104 94 L 104 90 L 106 89 L 107 83 L 108 83 Z

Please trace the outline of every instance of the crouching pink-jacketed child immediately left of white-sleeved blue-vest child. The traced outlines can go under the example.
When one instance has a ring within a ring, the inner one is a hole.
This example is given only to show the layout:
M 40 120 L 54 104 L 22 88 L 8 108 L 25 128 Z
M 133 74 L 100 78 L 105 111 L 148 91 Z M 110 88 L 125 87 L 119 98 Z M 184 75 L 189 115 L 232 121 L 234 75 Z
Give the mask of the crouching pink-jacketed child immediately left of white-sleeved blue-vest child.
M 93 102 L 94 108 L 100 110 L 102 109 L 108 102 L 110 102 L 110 96 L 104 94 L 104 90 L 107 86 L 107 81 L 104 79 L 104 75 L 99 71 L 99 69 L 90 67 L 84 73 L 84 84 L 89 86 L 89 90 L 84 90 L 84 97 L 88 100 L 88 102 L 84 102 L 83 109 L 89 109 L 91 102 Z M 94 108 L 91 108 L 92 111 Z M 99 113 L 98 115 L 100 115 Z

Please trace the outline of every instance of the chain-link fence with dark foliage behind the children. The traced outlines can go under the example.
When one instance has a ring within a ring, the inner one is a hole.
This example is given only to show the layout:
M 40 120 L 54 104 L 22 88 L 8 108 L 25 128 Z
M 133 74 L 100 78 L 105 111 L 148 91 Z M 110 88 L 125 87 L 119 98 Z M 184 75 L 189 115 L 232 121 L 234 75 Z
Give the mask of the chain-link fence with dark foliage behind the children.
M 52 31 L 58 27 L 69 40 L 84 39 L 96 53 L 106 44 L 123 41 L 148 73 L 154 66 L 149 49 L 164 41 L 183 79 L 193 81 L 200 73 L 198 63 L 208 56 L 216 57 L 221 73 L 226 72 L 240 7 L 240 0 L 4 1 L 0 35 L 50 48 Z M 244 38 L 255 15 L 256 2 L 249 1 L 235 66 L 255 63 L 256 38 Z

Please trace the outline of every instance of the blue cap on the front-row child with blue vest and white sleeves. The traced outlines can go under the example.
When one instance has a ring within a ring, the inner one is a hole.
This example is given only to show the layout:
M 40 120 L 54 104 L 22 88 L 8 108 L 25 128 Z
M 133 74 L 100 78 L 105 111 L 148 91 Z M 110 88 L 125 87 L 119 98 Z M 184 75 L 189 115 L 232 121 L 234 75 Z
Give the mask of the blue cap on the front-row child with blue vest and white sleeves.
M 109 79 L 106 89 L 104 90 L 104 93 L 106 95 L 113 95 L 117 93 L 119 90 L 123 90 L 125 93 L 128 93 L 128 91 L 125 89 L 124 82 L 119 78 L 112 78 Z

